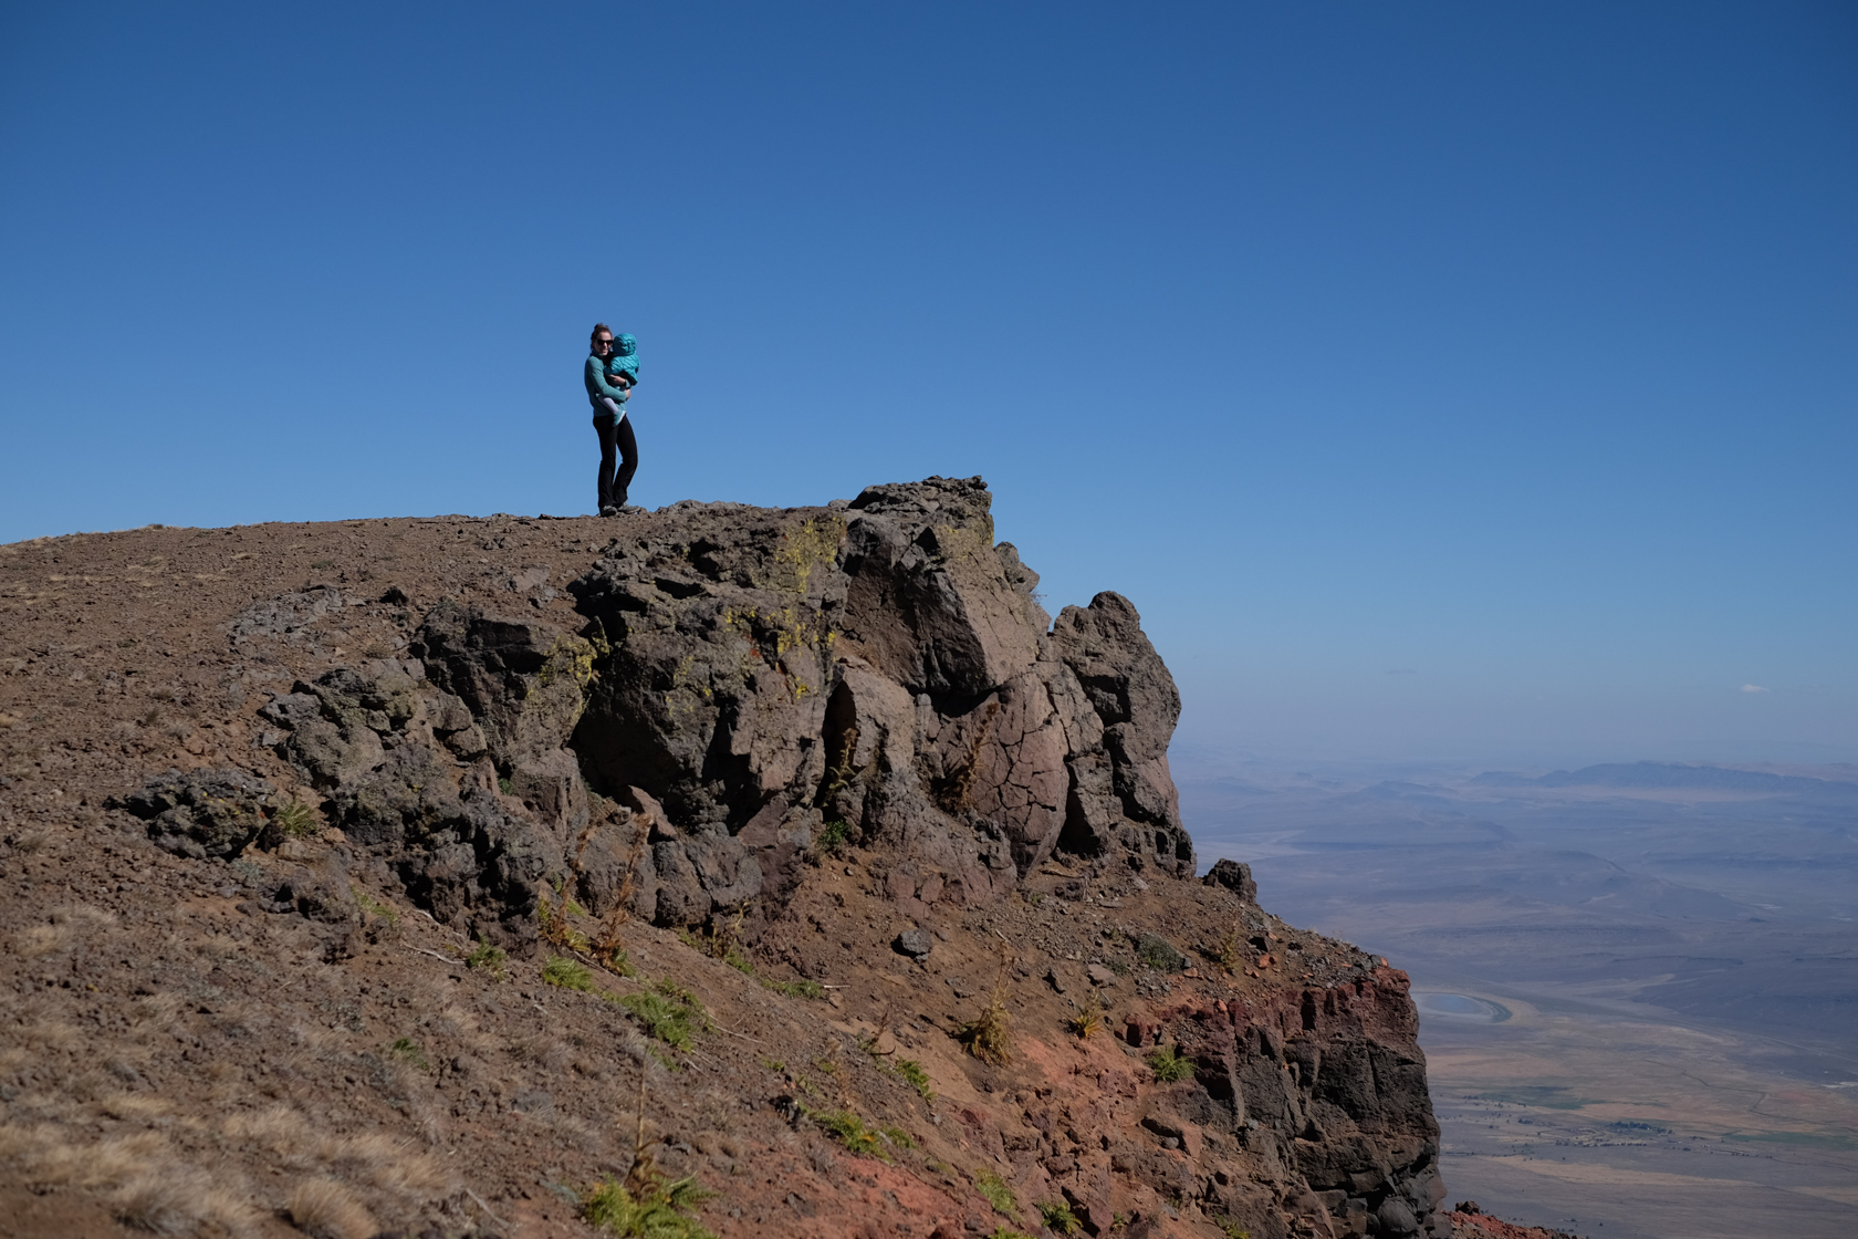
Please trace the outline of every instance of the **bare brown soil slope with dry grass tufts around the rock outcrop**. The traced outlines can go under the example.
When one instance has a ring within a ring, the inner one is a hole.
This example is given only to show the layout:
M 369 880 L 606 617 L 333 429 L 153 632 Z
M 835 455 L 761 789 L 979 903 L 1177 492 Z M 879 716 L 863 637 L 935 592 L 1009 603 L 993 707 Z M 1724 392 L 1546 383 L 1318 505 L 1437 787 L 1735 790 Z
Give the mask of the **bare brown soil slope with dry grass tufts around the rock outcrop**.
M 1042 1233 L 1035 1206 L 1091 1183 L 1122 1233 L 1226 1233 L 1176 1194 L 1202 1137 L 1141 1126 L 1195 1083 L 1158 1083 L 1145 1055 L 1195 1022 L 1310 1011 L 1308 994 L 1399 1005 L 1405 975 L 1271 918 L 1269 966 L 1250 947 L 1236 973 L 1195 959 L 1237 923 L 1223 888 L 1079 892 L 1053 864 L 1001 905 L 923 918 L 845 851 L 818 858 L 741 968 L 628 923 L 637 975 L 593 966 L 578 992 L 543 981 L 546 955 L 504 962 L 504 979 L 466 966 L 472 944 L 390 884 L 359 892 L 353 933 L 255 903 L 266 873 L 344 849 L 336 832 L 186 860 L 106 806 L 206 765 L 314 802 L 260 745 L 269 693 L 388 658 L 440 596 L 572 628 L 557 591 L 613 528 L 448 516 L 0 548 L 0 1235 L 587 1235 L 582 1193 L 634 1161 L 641 1072 L 650 1154 L 717 1193 L 700 1222 L 719 1235 Z M 396 602 L 351 602 L 383 594 Z M 923 962 L 892 949 L 912 918 L 936 936 Z M 1195 970 L 1091 985 L 1085 960 L 1137 929 Z M 827 962 L 829 998 L 767 988 L 799 975 L 793 960 Z M 955 1037 L 996 979 L 1003 1066 Z M 606 1001 L 660 983 L 708 1012 L 689 1050 L 641 1038 Z M 1066 1029 L 1079 1007 L 1104 1009 L 1098 1035 Z M 853 1152 L 797 1107 L 896 1131 Z M 1014 1209 L 979 1194 L 983 1174 Z

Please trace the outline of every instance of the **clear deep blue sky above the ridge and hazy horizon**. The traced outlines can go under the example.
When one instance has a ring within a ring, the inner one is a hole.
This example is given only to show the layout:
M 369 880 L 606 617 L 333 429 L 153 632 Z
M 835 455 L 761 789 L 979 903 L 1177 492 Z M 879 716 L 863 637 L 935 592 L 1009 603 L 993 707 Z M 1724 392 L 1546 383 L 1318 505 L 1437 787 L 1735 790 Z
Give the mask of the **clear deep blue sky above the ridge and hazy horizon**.
M 0 541 L 983 474 L 1184 737 L 1858 760 L 1858 7 L 9 6 Z M 1761 693 L 1743 691 L 1758 685 Z

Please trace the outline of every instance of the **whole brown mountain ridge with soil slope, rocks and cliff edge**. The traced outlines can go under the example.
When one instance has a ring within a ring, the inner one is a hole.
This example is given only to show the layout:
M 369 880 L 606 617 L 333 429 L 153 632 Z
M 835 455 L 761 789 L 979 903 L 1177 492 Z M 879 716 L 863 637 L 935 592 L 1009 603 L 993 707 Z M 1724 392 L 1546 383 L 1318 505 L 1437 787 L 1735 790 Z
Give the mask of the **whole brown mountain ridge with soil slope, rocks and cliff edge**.
M 15 1233 L 1449 1232 L 1405 975 L 979 479 L 0 550 Z

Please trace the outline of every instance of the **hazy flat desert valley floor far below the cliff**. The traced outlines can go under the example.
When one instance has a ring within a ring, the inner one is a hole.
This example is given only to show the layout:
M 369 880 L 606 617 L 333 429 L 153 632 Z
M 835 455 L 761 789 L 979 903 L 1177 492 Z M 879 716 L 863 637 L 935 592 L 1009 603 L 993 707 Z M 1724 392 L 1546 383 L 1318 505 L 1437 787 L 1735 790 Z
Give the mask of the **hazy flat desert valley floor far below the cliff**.
M 1858 767 L 1176 752 L 1202 862 L 1412 975 L 1453 1202 L 1607 1239 L 1858 1232 Z

